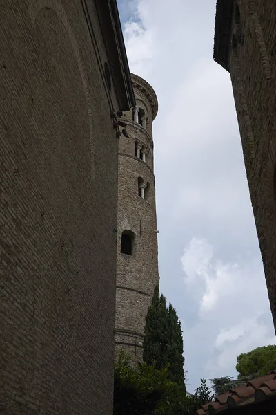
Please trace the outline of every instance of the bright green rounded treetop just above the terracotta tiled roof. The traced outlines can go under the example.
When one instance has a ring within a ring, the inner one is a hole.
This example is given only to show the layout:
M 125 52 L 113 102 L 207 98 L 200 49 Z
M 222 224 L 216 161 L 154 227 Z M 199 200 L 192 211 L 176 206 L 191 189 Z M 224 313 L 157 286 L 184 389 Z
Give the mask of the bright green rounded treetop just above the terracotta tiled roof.
M 242 353 L 237 357 L 236 370 L 239 377 L 264 376 L 268 371 L 276 369 L 276 346 L 257 347 L 249 353 Z

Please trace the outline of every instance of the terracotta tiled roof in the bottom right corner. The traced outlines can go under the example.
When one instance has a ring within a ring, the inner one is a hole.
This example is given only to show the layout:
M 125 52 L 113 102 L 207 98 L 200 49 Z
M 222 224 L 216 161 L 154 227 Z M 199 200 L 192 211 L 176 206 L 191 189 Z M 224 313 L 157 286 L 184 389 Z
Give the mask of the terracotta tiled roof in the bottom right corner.
M 268 372 L 266 376 L 249 380 L 244 385 L 230 389 L 226 394 L 216 396 L 215 400 L 197 409 L 194 415 L 220 414 L 224 409 L 249 405 L 273 396 L 276 398 L 276 370 Z

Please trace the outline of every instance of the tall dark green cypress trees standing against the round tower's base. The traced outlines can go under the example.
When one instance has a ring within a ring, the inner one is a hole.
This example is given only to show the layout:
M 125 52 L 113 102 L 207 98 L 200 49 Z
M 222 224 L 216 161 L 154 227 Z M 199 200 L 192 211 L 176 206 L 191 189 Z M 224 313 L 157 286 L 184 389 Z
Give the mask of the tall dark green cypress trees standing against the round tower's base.
M 167 308 L 166 298 L 159 295 L 158 284 L 146 315 L 143 360 L 156 369 L 169 365 L 170 380 L 184 385 L 181 323 L 172 304 Z

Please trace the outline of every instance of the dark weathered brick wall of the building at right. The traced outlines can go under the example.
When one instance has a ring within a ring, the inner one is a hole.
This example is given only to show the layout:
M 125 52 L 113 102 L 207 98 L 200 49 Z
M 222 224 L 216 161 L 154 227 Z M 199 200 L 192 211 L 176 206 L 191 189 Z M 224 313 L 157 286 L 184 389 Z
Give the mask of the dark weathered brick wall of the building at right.
M 237 19 L 238 7 L 240 19 Z M 217 17 L 219 24 L 219 16 Z M 276 328 L 275 0 L 233 1 L 231 19 L 228 68 L 233 84 L 268 296 Z

